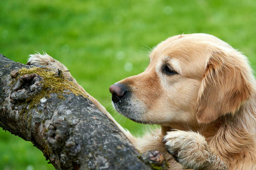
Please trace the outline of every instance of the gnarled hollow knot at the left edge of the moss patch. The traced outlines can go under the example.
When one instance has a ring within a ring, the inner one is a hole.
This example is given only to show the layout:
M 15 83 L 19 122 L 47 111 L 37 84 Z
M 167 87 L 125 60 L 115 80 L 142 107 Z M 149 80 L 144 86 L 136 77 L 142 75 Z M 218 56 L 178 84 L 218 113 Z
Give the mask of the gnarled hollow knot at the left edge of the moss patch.
M 12 71 L 11 76 L 17 76 L 17 73 Z M 14 102 L 26 101 L 30 96 L 37 94 L 42 90 L 42 80 L 38 74 L 25 74 L 17 80 L 12 88 L 11 99 Z

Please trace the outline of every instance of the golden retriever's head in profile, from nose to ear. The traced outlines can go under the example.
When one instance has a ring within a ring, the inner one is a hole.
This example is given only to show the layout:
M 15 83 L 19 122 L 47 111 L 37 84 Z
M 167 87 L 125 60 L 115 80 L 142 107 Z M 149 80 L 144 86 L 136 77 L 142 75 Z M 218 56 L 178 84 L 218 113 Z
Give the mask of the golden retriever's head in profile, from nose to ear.
M 253 91 L 247 58 L 208 34 L 168 38 L 146 70 L 110 87 L 119 113 L 145 124 L 195 125 L 235 114 Z

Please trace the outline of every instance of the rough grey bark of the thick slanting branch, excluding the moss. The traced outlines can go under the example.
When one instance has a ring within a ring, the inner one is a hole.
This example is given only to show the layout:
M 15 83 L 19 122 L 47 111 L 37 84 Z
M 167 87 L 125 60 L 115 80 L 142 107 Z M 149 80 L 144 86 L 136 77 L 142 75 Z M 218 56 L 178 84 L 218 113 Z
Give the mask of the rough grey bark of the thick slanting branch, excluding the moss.
M 31 141 L 56 169 L 166 166 L 157 151 L 140 155 L 117 126 L 82 95 L 49 93 L 32 106 L 33 98 L 43 91 L 44 79 L 37 73 L 19 76 L 20 68 L 29 67 L 0 55 L 0 127 Z

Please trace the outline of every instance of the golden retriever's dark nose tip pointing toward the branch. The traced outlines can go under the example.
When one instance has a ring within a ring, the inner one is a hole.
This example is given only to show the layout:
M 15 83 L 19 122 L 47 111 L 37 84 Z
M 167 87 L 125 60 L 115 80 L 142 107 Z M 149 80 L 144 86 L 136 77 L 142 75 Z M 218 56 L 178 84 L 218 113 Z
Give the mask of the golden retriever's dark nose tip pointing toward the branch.
M 127 93 L 128 88 L 126 85 L 121 84 L 121 83 L 116 83 L 110 86 L 110 93 L 112 94 L 112 101 L 114 103 L 120 101 L 125 94 Z

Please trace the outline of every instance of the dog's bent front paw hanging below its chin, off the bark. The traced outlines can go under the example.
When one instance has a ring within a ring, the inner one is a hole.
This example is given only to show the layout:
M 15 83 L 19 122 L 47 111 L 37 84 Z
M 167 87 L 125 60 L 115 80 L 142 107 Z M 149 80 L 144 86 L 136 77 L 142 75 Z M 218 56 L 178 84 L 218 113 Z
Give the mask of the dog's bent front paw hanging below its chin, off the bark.
M 191 131 L 173 130 L 163 138 L 167 151 L 190 169 L 203 168 L 209 162 L 209 151 L 205 137 Z

